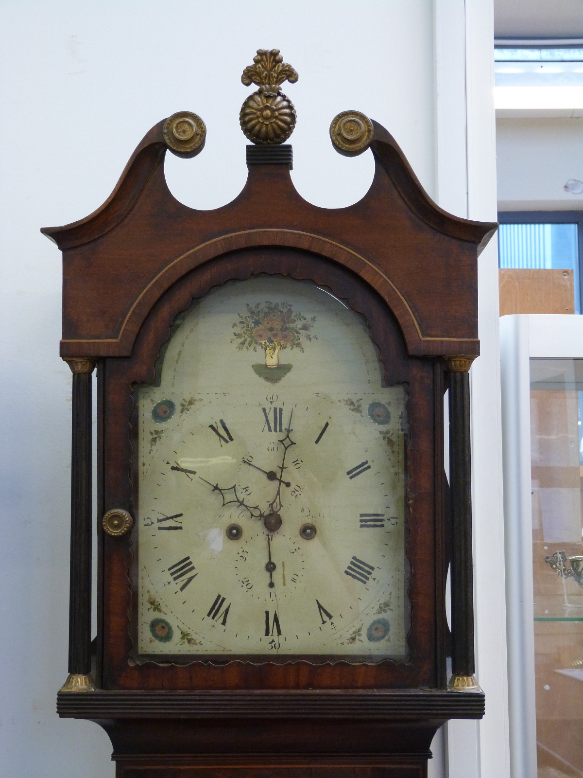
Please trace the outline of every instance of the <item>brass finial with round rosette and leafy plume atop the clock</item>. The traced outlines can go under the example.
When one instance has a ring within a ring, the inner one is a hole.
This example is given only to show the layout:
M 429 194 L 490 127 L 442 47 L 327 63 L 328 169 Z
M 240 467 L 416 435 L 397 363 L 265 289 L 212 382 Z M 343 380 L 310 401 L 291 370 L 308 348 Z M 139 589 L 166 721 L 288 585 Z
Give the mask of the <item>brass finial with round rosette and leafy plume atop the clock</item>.
M 253 65 L 245 68 L 241 81 L 245 86 L 257 84 L 259 89 L 247 97 L 239 123 L 252 143 L 285 143 L 295 128 L 295 108 L 281 92 L 281 84 L 295 84 L 298 74 L 287 65 L 279 49 L 257 49 Z

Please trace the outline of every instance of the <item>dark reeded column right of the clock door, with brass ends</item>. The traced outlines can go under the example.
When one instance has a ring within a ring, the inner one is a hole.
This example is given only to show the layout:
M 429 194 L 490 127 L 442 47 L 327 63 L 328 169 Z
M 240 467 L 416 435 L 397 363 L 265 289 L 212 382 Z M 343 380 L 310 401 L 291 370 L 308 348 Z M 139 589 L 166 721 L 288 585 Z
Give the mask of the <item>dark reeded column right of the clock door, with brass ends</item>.
M 481 692 L 474 677 L 471 356 L 445 357 L 449 372 L 449 493 L 452 511 L 452 678 L 449 689 Z

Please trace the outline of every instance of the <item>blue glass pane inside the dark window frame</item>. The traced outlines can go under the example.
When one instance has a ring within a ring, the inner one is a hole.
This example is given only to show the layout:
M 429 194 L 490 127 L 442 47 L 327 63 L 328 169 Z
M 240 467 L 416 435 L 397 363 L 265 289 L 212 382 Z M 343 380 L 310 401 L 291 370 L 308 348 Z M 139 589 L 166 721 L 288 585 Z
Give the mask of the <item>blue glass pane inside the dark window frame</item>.
M 501 224 L 501 268 L 563 268 L 573 271 L 575 313 L 581 313 L 577 224 Z

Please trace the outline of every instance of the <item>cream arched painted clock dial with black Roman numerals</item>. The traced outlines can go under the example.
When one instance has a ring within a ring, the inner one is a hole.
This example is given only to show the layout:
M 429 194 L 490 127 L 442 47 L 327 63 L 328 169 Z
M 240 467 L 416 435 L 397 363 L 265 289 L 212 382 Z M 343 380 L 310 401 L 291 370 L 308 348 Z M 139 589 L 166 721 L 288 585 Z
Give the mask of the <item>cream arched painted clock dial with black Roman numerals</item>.
M 383 373 L 312 282 L 177 317 L 135 392 L 139 657 L 407 656 L 406 391 Z

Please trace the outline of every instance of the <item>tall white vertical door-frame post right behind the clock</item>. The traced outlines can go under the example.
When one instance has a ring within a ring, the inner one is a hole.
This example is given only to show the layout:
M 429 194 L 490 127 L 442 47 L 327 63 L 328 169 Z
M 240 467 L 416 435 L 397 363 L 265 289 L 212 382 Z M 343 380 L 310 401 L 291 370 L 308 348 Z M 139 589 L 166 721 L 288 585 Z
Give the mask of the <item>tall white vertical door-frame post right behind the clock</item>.
M 484 221 L 496 219 L 493 27 L 491 2 L 435 2 L 439 204 Z M 496 240 L 478 260 L 478 293 L 480 357 L 470 371 L 473 576 L 486 715 L 447 724 L 448 778 L 510 774 Z

